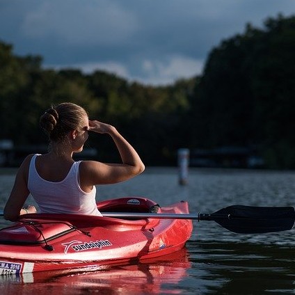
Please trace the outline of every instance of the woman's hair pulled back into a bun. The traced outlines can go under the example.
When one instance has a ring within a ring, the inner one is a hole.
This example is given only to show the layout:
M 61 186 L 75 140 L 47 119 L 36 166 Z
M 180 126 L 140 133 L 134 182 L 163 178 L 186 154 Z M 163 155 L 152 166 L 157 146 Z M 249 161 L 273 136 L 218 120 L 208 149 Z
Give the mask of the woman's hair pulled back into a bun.
M 77 104 L 63 102 L 51 106 L 40 117 L 40 126 L 48 134 L 50 141 L 62 141 L 72 130 L 83 129 L 87 112 Z

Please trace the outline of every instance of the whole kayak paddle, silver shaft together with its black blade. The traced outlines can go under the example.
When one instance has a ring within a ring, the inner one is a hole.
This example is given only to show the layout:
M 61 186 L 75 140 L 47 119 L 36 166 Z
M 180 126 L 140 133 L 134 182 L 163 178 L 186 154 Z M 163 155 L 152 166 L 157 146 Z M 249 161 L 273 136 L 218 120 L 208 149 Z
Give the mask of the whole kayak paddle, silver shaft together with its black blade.
M 232 205 L 220 209 L 217 212 L 207 214 L 102 212 L 102 215 L 115 218 L 193 219 L 197 221 L 216 221 L 216 223 L 223 228 L 241 234 L 291 230 L 295 221 L 294 207 L 253 207 L 243 205 Z M 3 216 L 3 212 L 0 212 L 0 216 Z

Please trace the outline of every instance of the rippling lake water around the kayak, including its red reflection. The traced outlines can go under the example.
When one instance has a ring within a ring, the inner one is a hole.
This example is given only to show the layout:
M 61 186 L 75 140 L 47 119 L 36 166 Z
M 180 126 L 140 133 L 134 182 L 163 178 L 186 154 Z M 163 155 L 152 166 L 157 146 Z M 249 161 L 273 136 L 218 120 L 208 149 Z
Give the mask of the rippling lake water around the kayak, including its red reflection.
M 14 173 L 0 175 L 0 208 Z M 180 186 L 176 168 L 147 168 L 122 184 L 99 186 L 98 199 L 145 196 L 160 205 L 188 200 L 191 213 L 229 205 L 294 205 L 295 172 L 190 169 Z M 31 202 L 31 201 L 30 201 Z M 0 219 L 0 228 L 8 224 Z M 94 273 L 0 277 L 0 294 L 294 294 L 293 230 L 234 234 L 214 221 L 194 221 L 186 248 L 157 261 Z

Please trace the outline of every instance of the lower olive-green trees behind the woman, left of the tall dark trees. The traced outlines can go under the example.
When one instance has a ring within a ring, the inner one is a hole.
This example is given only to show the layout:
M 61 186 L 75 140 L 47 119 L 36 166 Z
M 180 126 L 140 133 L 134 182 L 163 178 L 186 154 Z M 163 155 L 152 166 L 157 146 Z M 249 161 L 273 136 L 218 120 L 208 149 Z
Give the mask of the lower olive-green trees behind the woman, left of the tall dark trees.
M 102 71 L 85 75 L 74 69 L 45 70 L 41 61 L 39 56 L 15 56 L 12 45 L 0 42 L 0 120 L 6 126 L 0 139 L 17 146 L 47 144 L 45 135 L 40 136 L 40 115 L 51 105 L 70 101 L 85 107 L 90 118 L 118 127 L 145 164 L 175 161 L 175 136 L 170 134 L 189 107 L 186 81 L 154 88 Z M 192 85 L 193 79 L 187 83 Z M 99 157 L 111 161 L 118 157 L 111 144 L 90 136 L 88 147 L 98 148 Z

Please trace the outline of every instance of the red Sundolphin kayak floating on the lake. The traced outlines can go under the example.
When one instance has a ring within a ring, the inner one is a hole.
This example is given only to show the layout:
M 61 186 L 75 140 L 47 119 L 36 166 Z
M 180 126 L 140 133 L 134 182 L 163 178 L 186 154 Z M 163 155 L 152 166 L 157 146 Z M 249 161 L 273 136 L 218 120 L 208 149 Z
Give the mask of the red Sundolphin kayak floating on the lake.
M 0 275 L 94 271 L 108 264 L 135 263 L 182 249 L 193 230 L 190 219 L 153 217 L 154 212 L 188 214 L 184 201 L 159 207 L 152 200 L 131 197 L 98 202 L 97 207 L 103 215 L 129 212 L 129 216 L 26 214 L 1 229 Z

